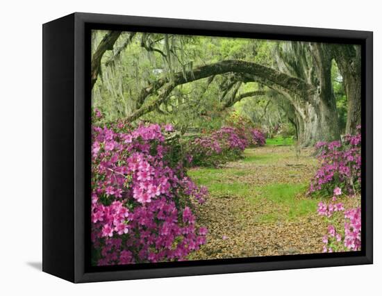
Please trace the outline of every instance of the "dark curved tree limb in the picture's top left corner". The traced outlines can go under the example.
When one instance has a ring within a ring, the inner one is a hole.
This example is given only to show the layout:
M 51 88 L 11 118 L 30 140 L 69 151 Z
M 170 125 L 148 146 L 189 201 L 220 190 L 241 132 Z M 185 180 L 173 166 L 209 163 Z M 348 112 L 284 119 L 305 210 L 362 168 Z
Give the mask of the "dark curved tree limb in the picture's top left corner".
M 92 69 L 91 69 L 92 88 L 98 79 L 98 74 L 101 69 L 101 59 L 103 54 L 105 54 L 107 50 L 113 49 L 114 44 L 119 38 L 119 35 L 121 35 L 121 33 L 122 33 L 121 31 L 111 31 L 110 33 L 107 33 L 103 37 L 101 42 L 99 43 L 96 51 L 94 52 L 92 56 Z

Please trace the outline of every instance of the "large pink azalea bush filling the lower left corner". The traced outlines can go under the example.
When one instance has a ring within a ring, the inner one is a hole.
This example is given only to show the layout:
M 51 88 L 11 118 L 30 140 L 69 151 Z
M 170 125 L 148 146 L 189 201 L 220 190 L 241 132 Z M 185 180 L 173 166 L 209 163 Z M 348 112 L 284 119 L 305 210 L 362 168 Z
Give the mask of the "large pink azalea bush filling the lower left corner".
M 92 261 L 95 265 L 181 261 L 206 243 L 192 199 L 207 190 L 187 176 L 165 134 L 171 125 L 92 126 Z

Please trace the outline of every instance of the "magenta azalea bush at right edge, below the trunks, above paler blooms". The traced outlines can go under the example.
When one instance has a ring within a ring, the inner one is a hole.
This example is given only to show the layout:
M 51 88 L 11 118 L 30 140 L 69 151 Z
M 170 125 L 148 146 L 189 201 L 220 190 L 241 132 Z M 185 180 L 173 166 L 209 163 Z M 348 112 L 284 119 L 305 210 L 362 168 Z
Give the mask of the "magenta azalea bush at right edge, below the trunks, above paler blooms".
M 329 195 L 335 187 L 353 195 L 360 188 L 361 169 L 360 126 L 356 135 L 346 135 L 342 141 L 318 142 L 320 167 L 310 183 L 310 192 Z

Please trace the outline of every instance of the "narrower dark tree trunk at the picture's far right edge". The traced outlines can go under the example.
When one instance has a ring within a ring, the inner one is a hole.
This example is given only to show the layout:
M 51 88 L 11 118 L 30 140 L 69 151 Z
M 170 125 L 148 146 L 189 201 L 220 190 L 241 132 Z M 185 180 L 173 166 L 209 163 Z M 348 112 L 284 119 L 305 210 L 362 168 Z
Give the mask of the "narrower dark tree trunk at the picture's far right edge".
M 342 75 L 347 97 L 346 133 L 357 133 L 361 122 L 361 58 L 359 45 L 333 45 L 333 55 Z

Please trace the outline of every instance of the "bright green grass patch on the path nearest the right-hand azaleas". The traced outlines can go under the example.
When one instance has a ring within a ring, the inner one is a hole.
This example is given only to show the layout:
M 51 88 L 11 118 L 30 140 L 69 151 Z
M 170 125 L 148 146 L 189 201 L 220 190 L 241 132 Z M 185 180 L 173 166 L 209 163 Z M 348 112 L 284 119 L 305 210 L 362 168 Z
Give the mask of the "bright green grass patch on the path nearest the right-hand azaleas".
M 256 199 L 249 198 L 252 203 L 257 203 L 258 199 L 267 199 L 272 202 L 276 208 L 280 208 L 282 213 L 274 215 L 274 213 L 267 213 L 259 217 L 260 221 L 270 222 L 280 220 L 281 218 L 287 220 L 294 220 L 298 217 L 313 213 L 317 208 L 317 200 L 308 197 L 299 197 L 297 195 L 304 195 L 308 188 L 305 183 L 298 184 L 270 184 L 257 188 L 258 197 Z

